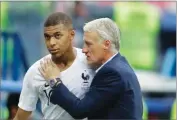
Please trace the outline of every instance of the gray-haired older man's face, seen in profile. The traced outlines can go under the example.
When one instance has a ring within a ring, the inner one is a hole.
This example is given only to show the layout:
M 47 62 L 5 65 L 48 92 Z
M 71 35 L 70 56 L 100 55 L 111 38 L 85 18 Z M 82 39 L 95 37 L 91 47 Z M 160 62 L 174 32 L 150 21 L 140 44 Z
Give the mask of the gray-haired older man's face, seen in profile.
M 96 32 L 84 32 L 84 46 L 82 52 L 87 56 L 88 64 L 97 66 L 104 58 L 104 45 Z

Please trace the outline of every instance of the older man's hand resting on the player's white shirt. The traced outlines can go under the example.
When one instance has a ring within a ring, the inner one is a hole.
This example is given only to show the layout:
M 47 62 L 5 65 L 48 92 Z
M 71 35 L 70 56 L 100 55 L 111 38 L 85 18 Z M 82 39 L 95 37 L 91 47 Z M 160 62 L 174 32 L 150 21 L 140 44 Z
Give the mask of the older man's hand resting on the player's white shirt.
M 45 80 L 51 80 L 60 75 L 59 67 L 52 61 L 51 58 L 45 58 L 40 62 L 39 72 Z

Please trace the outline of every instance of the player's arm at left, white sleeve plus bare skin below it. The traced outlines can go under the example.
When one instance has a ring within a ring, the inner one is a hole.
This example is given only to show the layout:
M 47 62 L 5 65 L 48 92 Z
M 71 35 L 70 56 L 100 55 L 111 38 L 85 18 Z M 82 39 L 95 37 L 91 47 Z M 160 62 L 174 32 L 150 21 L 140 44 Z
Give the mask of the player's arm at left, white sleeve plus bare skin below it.
M 18 103 L 18 111 L 14 120 L 28 120 L 32 111 L 36 109 L 38 91 L 35 86 L 34 76 L 36 70 L 30 68 L 23 80 L 22 91 Z

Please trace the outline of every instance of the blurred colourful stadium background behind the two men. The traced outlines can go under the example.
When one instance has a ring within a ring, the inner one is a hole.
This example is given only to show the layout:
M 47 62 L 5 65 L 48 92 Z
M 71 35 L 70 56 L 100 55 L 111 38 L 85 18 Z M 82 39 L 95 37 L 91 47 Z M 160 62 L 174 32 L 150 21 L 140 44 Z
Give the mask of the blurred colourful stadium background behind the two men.
M 135 69 L 144 98 L 143 119 L 176 119 L 176 2 L 1 2 L 0 119 L 16 113 L 27 69 L 48 54 L 43 22 L 52 12 L 73 19 L 74 46 L 82 48 L 82 27 L 109 17 L 121 29 L 121 53 Z M 41 111 L 33 119 L 41 118 Z

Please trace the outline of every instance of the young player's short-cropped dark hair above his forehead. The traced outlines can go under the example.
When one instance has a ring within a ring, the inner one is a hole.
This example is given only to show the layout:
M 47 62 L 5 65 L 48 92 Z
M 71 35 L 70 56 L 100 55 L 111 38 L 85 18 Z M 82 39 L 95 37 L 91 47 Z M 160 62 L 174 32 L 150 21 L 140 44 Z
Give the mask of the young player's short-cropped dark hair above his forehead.
M 44 23 L 44 27 L 55 26 L 63 24 L 67 28 L 72 28 L 72 19 L 62 12 L 55 12 L 48 16 Z

